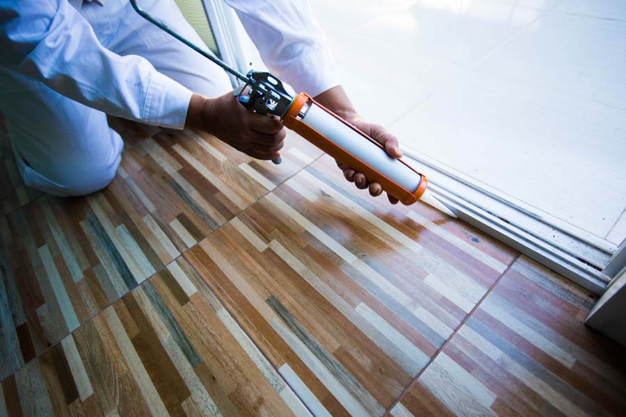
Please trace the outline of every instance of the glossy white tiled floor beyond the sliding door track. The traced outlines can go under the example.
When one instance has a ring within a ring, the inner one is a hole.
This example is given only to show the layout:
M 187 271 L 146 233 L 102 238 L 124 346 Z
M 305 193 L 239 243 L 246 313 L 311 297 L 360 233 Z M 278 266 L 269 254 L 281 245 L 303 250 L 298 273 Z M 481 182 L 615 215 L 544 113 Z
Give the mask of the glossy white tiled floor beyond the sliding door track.
M 580 236 L 626 238 L 620 0 L 312 0 L 358 110 Z

